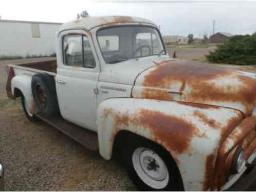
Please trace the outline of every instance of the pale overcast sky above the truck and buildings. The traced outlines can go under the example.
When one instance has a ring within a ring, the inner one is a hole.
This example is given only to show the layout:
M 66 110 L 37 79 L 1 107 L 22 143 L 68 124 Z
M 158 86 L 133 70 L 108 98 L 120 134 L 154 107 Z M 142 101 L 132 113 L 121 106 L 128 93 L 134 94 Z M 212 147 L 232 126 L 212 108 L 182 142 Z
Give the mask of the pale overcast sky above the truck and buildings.
M 2 19 L 68 22 L 87 10 L 90 16 L 145 17 L 161 26 L 163 35 L 215 32 L 252 34 L 256 31 L 256 2 L 88 2 L 48 0 L 1 0 Z

